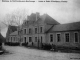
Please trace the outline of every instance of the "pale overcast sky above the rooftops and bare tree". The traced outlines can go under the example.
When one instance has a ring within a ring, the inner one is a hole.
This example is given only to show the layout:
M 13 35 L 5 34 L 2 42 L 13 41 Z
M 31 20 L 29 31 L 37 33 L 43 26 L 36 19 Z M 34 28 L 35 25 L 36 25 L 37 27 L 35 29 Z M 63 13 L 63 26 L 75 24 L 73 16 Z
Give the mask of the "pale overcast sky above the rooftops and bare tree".
M 47 13 L 61 24 L 80 21 L 80 0 L 65 1 L 67 2 L 2 2 L 0 0 L 0 22 L 4 20 L 6 14 L 22 9 L 25 9 L 28 14 Z M 1 30 L 4 37 L 6 31 L 6 27 Z

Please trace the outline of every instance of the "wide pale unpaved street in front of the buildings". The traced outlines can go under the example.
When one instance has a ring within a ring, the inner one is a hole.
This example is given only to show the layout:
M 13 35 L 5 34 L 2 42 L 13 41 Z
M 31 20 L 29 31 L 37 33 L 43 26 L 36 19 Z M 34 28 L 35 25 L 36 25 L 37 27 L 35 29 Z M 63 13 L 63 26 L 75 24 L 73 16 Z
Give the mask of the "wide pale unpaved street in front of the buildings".
M 20 46 L 4 46 L 8 54 L 0 55 L 0 60 L 80 60 L 78 53 L 50 52 Z

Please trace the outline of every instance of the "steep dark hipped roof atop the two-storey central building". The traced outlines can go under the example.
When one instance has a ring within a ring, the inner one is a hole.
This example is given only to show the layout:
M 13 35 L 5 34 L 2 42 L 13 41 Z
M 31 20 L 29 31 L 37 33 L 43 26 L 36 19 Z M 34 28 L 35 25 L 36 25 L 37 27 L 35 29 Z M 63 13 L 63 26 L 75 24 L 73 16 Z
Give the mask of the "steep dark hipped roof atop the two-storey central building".
M 53 19 L 52 17 L 50 17 L 48 14 L 43 14 L 43 15 L 39 15 L 39 13 L 32 13 L 30 16 L 28 16 L 28 23 L 32 24 L 32 23 L 38 23 L 38 21 L 43 21 L 47 24 L 60 24 L 59 22 L 57 22 L 55 19 Z M 25 21 L 25 22 L 26 22 Z

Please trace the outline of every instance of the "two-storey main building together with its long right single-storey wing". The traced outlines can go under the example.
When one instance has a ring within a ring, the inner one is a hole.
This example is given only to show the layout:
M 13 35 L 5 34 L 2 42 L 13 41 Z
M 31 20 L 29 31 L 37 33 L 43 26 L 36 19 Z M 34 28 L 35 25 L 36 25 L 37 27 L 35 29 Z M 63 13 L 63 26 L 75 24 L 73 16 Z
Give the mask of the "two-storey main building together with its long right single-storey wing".
M 80 48 L 80 22 L 60 24 L 48 14 L 33 13 L 17 31 L 19 42 L 28 46 L 50 44 Z

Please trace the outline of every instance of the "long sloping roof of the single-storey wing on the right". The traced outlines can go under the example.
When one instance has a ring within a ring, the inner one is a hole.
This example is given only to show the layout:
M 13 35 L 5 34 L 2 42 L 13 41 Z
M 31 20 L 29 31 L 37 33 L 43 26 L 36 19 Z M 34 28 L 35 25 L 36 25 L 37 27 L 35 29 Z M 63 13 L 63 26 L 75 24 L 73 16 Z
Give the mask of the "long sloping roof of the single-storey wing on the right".
M 48 32 L 80 30 L 80 22 L 54 25 Z

